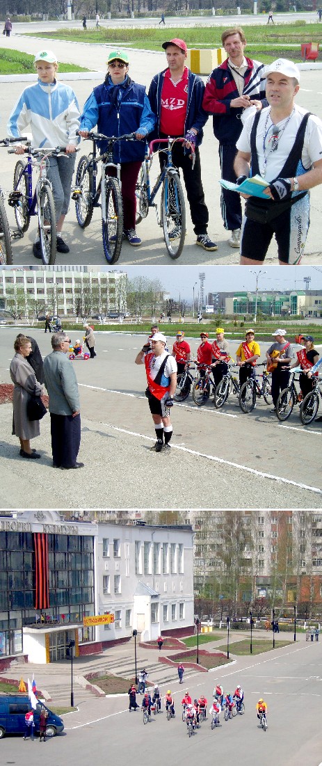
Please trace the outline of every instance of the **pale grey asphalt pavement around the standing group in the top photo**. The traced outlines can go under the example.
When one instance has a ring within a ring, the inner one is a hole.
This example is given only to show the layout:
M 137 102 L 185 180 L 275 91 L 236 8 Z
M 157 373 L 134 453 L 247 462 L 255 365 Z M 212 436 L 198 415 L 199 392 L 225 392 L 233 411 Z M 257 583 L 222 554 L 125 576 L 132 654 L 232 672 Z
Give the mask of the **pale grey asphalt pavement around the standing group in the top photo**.
M 222 23 L 222 22 L 220 22 Z M 229 21 L 229 25 L 233 21 Z M 200 31 L 202 34 L 202 31 Z M 164 31 L 164 39 L 168 37 Z M 214 31 L 214 46 L 219 45 Z M 23 37 L 14 34 L 10 38 L 10 47 L 19 51 L 34 54 L 41 47 L 41 38 Z M 93 87 L 99 81 L 102 81 L 106 74 L 106 58 L 112 48 L 115 46 L 101 44 L 71 43 L 66 41 L 48 40 L 44 42 L 46 47 L 53 47 L 59 61 L 67 61 L 74 64 L 80 64 L 92 70 L 93 74 L 83 76 L 83 74 L 73 75 L 70 80 L 66 75 L 61 79 L 69 82 L 74 88 L 76 96 L 80 103 L 80 109 L 83 108 L 86 98 L 89 96 Z M 0 47 L 8 47 L 5 38 L 0 40 Z M 246 49 L 247 52 L 247 49 Z M 151 77 L 157 74 L 166 66 L 166 60 L 163 52 L 155 51 L 137 51 L 129 49 L 130 54 L 130 76 L 139 83 L 147 87 L 151 82 Z M 203 77 L 206 81 L 207 77 Z M 19 77 L 11 77 L 9 81 L 0 82 L 0 113 L 2 115 L 2 133 L 5 137 L 5 125 L 11 109 L 21 94 L 23 87 L 28 83 L 22 83 Z M 322 93 L 322 70 L 304 70 L 301 74 L 301 90 L 297 97 L 297 103 L 304 106 L 317 116 L 322 116 L 321 110 Z M 119 257 L 119 266 L 126 267 L 128 264 L 142 266 L 161 265 L 171 266 L 203 264 L 207 265 L 238 265 L 239 250 L 229 247 L 229 232 L 223 228 L 223 222 L 220 215 L 220 165 L 218 156 L 218 142 L 213 136 L 212 119 L 208 119 L 204 130 L 203 144 L 200 149 L 201 168 L 203 177 L 203 186 L 207 205 L 210 214 L 210 223 L 208 233 L 210 237 L 218 244 L 218 250 L 207 253 L 196 244 L 196 236 L 190 220 L 190 213 L 187 214 L 187 235 L 184 244 L 184 250 L 178 260 L 171 260 L 164 245 L 161 228 L 158 226 L 154 210 L 150 210 L 148 218 L 141 222 L 138 233 L 142 239 L 141 247 L 131 247 L 128 242 L 122 245 L 122 252 Z M 82 142 L 80 155 L 88 154 L 90 142 Z M 15 155 L 8 155 L 5 149 L 2 149 L 2 185 L 5 191 L 10 191 L 12 187 L 12 177 L 15 167 Z M 158 172 L 158 162 L 155 161 L 152 166 L 151 178 L 154 180 Z M 307 237 L 307 244 L 304 257 L 301 261 L 303 265 L 322 263 L 322 246 L 320 244 L 320 214 L 322 212 L 322 198 L 320 188 L 313 189 L 311 192 L 311 227 Z M 9 223 L 15 229 L 15 218 L 12 208 L 8 208 Z M 102 232 L 99 210 L 94 211 L 92 223 L 85 230 L 81 229 L 76 221 L 76 214 L 73 202 L 70 205 L 70 211 L 67 214 L 64 232 L 66 239 L 70 244 L 70 253 L 67 255 L 57 254 L 57 265 L 80 264 L 96 265 L 97 267 L 106 264 L 102 248 Z M 14 264 L 22 266 L 39 265 L 39 262 L 32 255 L 32 244 L 36 231 L 35 219 L 31 221 L 29 231 L 22 240 L 13 242 L 13 260 Z M 273 242 L 268 250 L 268 256 L 265 259 L 265 265 L 277 264 L 277 250 Z

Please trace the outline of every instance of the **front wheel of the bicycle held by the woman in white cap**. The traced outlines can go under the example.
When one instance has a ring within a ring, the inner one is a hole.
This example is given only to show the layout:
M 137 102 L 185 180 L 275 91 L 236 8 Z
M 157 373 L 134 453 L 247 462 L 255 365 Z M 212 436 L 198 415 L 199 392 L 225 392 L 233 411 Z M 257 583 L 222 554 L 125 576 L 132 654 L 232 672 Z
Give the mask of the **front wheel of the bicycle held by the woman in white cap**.
M 53 192 L 47 182 L 37 185 L 38 228 L 41 241 L 43 264 L 54 264 L 56 260 L 56 211 Z

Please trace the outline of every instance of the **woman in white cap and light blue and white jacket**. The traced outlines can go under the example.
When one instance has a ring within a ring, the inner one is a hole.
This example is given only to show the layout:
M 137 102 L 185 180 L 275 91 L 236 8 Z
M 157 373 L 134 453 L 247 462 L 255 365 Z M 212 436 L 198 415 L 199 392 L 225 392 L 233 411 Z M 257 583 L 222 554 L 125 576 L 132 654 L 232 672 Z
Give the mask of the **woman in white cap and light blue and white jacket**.
M 21 136 L 31 126 L 32 146 L 61 146 L 66 155 L 48 159 L 49 178 L 54 194 L 57 226 L 57 252 L 69 253 L 63 241 L 63 222 L 70 205 L 70 188 L 75 166 L 75 149 L 80 142 L 76 131 L 80 126 L 80 110 L 75 93 L 68 85 L 57 80 L 57 57 L 53 51 L 39 51 L 34 57 L 38 80 L 21 93 L 8 121 L 8 136 Z M 24 153 L 17 146 L 16 154 Z M 41 258 L 39 236 L 34 242 L 33 254 Z

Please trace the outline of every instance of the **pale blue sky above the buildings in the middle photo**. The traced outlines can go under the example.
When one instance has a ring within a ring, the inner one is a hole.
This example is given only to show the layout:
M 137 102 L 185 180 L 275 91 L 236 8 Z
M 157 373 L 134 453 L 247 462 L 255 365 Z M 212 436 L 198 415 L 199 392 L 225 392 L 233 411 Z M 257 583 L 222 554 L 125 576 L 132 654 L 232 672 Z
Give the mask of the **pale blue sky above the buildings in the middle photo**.
M 111 267 L 108 270 L 113 270 Z M 119 269 L 114 269 L 119 271 Z M 192 300 L 199 290 L 199 274 L 205 273 L 204 294 L 255 291 L 256 277 L 259 291 L 305 290 L 304 277 L 311 277 L 310 290 L 322 290 L 322 267 L 317 266 L 128 266 L 124 269 L 128 277 L 148 277 L 161 280 L 164 290 L 171 293 L 174 300 L 179 293 L 181 298 Z M 196 285 L 197 282 L 197 285 Z

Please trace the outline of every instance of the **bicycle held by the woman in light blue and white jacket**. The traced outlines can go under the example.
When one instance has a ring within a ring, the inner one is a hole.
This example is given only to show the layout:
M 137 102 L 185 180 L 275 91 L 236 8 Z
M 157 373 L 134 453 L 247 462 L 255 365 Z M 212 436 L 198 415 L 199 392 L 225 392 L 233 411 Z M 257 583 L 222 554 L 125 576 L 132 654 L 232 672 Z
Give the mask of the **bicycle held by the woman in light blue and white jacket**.
M 21 140 L 21 139 L 20 139 Z M 59 157 L 65 154 L 64 149 L 47 147 L 32 149 L 30 143 L 25 147 L 28 152 L 27 161 L 19 159 L 15 165 L 14 189 L 8 195 L 8 204 L 15 210 L 15 220 L 19 236 L 23 237 L 28 231 L 31 215 L 37 215 L 39 239 L 41 242 L 41 260 L 46 266 L 53 265 L 56 260 L 56 211 L 54 195 L 50 181 L 47 178 L 47 160 L 49 157 Z M 15 149 L 9 149 L 12 154 Z M 37 168 L 39 176 L 32 188 L 32 170 Z

